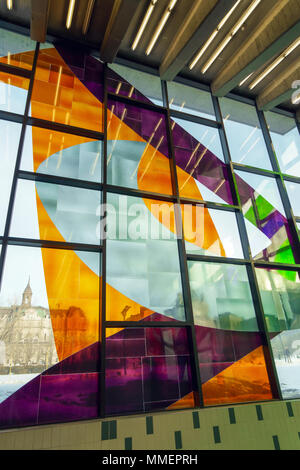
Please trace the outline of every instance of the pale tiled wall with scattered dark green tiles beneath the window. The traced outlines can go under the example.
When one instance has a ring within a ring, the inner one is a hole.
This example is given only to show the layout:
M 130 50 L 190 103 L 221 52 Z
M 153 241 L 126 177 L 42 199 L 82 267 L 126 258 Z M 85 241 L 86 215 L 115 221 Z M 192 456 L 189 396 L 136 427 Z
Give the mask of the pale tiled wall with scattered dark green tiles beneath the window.
M 2 431 L 0 449 L 300 450 L 300 401 Z

